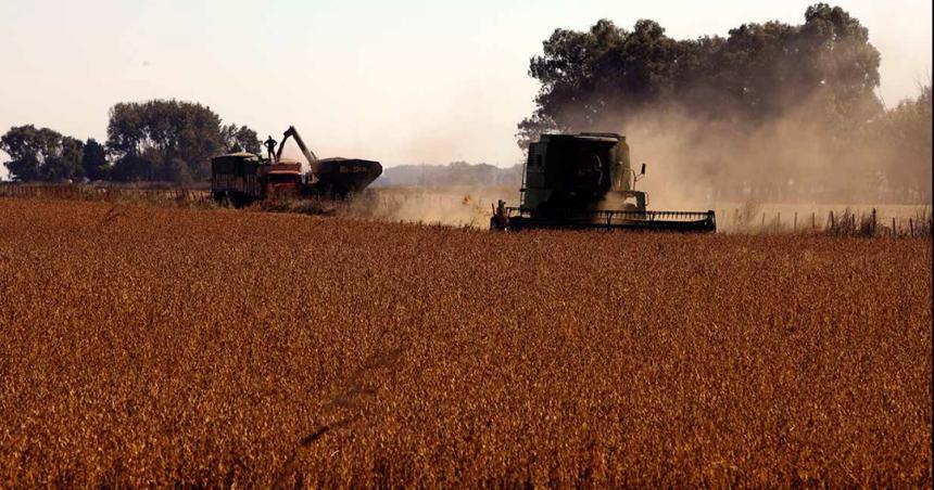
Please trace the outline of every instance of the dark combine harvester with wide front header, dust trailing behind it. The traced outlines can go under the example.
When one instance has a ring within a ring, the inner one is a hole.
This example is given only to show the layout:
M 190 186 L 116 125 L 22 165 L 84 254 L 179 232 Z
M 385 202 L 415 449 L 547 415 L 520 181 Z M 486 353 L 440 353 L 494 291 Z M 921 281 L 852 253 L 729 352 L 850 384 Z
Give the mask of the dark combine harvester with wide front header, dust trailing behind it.
M 490 229 L 620 229 L 714 232 L 708 211 L 649 211 L 635 191 L 626 137 L 616 133 L 543 134 L 529 146 L 519 207 L 504 201 L 493 209 Z

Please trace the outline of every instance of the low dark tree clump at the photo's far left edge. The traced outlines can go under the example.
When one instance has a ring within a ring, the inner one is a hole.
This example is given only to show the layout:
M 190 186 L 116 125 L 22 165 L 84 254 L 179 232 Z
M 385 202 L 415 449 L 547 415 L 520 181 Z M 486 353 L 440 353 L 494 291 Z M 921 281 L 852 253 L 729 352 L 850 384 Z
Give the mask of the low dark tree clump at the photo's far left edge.
M 18 181 L 63 182 L 83 178 L 83 147 L 80 140 L 33 125 L 10 128 L 0 138 L 0 149 L 11 157 L 4 165 Z

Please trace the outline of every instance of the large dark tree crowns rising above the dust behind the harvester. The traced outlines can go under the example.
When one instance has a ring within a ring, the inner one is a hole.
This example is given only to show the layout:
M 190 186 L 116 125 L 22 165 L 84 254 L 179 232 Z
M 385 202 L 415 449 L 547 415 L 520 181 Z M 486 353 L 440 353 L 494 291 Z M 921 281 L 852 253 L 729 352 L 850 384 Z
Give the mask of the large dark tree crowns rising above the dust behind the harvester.
M 674 40 L 654 21 L 633 30 L 598 21 L 556 29 L 531 59 L 541 82 L 535 109 L 518 125 L 520 146 L 546 130 L 597 129 L 647 107 L 677 106 L 746 127 L 809 104 L 828 125 L 875 117 L 879 51 L 858 20 L 818 3 L 805 24 L 744 24 L 720 38 Z

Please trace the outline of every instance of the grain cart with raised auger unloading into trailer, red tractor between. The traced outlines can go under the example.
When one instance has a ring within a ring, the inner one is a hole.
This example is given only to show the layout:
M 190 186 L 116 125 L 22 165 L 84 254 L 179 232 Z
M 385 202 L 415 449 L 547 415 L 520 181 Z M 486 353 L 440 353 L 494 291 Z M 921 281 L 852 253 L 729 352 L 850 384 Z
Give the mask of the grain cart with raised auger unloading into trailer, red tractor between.
M 282 158 L 282 147 L 289 138 L 295 140 L 308 160 L 308 172 L 302 173 L 299 162 Z M 214 199 L 229 201 L 239 207 L 277 197 L 344 198 L 363 191 L 382 173 L 379 162 L 340 157 L 318 159 L 294 126 L 286 130 L 278 151 L 272 138 L 265 144 L 267 158 L 254 153 L 231 153 L 211 159 Z

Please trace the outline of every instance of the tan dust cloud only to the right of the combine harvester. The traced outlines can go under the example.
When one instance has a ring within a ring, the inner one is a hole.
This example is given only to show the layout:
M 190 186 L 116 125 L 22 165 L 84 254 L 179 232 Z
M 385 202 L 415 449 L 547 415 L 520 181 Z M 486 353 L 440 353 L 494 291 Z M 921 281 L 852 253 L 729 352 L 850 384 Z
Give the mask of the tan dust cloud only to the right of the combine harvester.
M 724 203 L 930 204 L 931 151 L 908 147 L 863 121 L 828 125 L 808 102 L 755 124 L 703 119 L 656 106 L 608 119 L 627 137 L 636 184 L 654 209 Z M 871 122 L 871 121 L 867 121 Z M 929 122 L 930 125 L 930 122 Z M 930 142 L 930 126 L 927 127 Z M 923 139 L 923 138 L 922 138 Z

